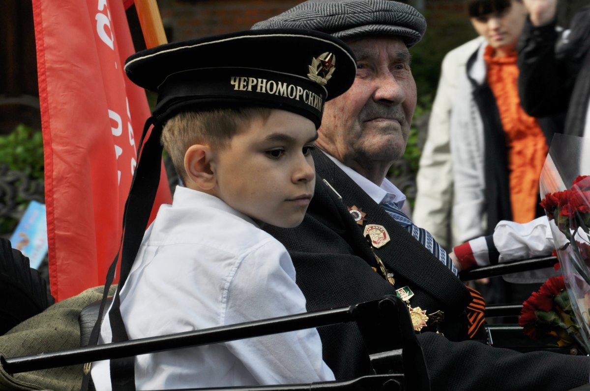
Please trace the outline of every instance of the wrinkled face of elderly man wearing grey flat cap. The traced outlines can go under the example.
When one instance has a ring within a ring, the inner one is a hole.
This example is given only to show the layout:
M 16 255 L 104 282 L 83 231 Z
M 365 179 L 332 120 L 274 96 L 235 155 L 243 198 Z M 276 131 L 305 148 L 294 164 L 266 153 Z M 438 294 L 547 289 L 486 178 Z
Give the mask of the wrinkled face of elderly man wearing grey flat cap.
M 326 103 L 317 145 L 359 173 L 404 154 L 416 107 L 410 55 L 398 38 L 348 42 L 358 74 L 350 90 Z

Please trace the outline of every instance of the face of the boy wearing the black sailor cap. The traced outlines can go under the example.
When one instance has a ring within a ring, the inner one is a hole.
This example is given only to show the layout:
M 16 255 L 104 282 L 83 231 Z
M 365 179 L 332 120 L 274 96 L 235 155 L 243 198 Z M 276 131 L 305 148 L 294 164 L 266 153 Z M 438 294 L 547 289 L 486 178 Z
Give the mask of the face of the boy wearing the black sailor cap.
M 215 195 L 255 221 L 299 225 L 316 182 L 310 155 L 316 138 L 313 122 L 293 112 L 253 118 L 214 158 Z

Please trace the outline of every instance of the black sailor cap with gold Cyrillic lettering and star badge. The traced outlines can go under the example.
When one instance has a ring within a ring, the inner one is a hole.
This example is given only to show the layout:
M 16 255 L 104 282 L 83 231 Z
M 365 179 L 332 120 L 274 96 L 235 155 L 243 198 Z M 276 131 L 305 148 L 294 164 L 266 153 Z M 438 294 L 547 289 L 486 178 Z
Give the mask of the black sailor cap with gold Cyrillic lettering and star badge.
M 248 104 L 295 112 L 319 127 L 324 102 L 352 85 L 356 60 L 322 32 L 260 29 L 140 51 L 125 72 L 158 92 L 153 116 L 160 124 L 179 111 Z

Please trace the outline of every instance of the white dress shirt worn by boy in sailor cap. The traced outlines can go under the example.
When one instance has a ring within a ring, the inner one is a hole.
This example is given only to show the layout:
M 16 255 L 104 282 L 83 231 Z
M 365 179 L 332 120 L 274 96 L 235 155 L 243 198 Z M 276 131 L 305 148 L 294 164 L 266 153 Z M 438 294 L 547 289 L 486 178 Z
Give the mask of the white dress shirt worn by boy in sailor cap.
M 129 339 L 306 312 L 286 248 L 217 197 L 177 187 L 148 228 L 121 294 Z M 99 343 L 112 340 L 106 316 Z M 97 390 L 109 362 L 95 362 Z M 137 356 L 136 387 L 175 389 L 333 380 L 316 329 Z

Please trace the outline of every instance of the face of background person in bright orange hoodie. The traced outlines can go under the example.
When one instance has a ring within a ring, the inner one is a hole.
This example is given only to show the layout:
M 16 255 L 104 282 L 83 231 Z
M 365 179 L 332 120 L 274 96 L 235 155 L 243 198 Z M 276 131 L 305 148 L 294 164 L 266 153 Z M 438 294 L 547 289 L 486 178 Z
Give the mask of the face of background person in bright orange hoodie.
M 512 0 L 510 7 L 504 11 L 471 18 L 471 24 L 491 47 L 503 55 L 516 47 L 525 26 L 526 14 L 525 5 Z

